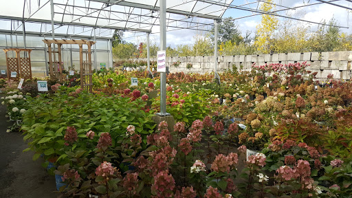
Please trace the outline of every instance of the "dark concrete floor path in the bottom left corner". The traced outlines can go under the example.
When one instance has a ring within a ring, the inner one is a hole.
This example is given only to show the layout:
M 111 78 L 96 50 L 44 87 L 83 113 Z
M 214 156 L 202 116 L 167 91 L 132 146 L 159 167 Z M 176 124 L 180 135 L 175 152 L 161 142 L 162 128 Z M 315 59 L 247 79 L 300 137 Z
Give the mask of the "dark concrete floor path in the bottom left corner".
M 43 159 L 33 161 L 33 152 L 22 152 L 28 148 L 22 133 L 6 133 L 13 123 L 5 115 L 6 107 L 0 104 L 0 197 L 59 197 L 61 193 L 55 192 L 55 177 L 41 166 Z

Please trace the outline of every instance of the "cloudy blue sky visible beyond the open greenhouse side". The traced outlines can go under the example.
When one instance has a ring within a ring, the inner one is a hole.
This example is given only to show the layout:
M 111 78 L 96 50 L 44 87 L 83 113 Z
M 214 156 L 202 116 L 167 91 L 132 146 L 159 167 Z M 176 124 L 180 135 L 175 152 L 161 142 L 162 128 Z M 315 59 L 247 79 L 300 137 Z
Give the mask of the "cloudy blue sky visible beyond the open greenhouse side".
M 325 0 L 328 1 L 328 0 Z M 254 0 L 234 0 L 232 2 L 232 5 L 243 5 L 247 2 L 254 2 Z M 316 0 L 275 0 L 274 3 L 276 3 L 276 10 L 281 10 L 285 9 L 284 7 L 281 7 L 279 5 L 283 5 L 287 8 L 294 8 L 300 5 L 307 5 L 311 3 L 320 3 L 320 1 Z M 346 7 L 349 7 L 352 9 L 352 3 L 349 1 L 333 1 L 332 3 L 336 3 L 339 5 L 344 5 Z M 256 9 L 256 6 L 258 3 L 252 3 L 250 5 L 244 5 L 245 8 L 252 8 Z M 259 4 L 260 6 L 261 4 Z M 349 12 L 350 11 L 350 12 Z M 322 21 L 327 21 L 329 22 L 332 18 L 336 19 L 336 22 L 342 26 L 342 27 L 347 27 L 347 28 L 340 28 L 342 32 L 347 32 L 348 34 L 352 34 L 352 10 L 347 10 L 345 8 L 340 8 L 336 5 L 329 5 L 327 3 L 321 3 L 318 5 L 311 5 L 311 6 L 306 6 L 303 8 L 296 8 L 295 10 L 289 10 L 289 11 L 281 11 L 277 12 L 276 14 L 280 14 L 283 16 L 290 16 L 298 19 L 303 19 L 306 21 L 314 21 L 317 23 L 321 23 Z M 239 17 L 245 17 L 245 16 L 250 16 L 252 12 L 248 12 L 245 10 L 238 10 L 238 9 L 228 9 L 226 10 L 225 14 L 223 15 L 223 18 L 225 17 L 232 17 L 234 19 L 239 18 Z M 285 18 L 283 17 L 278 17 L 278 19 L 283 22 Z M 212 23 L 211 20 L 206 20 L 207 23 Z M 257 16 L 252 16 L 252 17 L 246 17 L 243 19 L 237 19 L 235 20 L 235 23 L 239 25 L 239 28 L 243 34 L 245 32 L 250 31 L 252 32 L 252 36 L 254 36 L 254 32 L 256 31 L 256 26 L 261 23 L 261 15 Z M 314 23 L 306 23 L 302 21 L 296 21 L 294 20 L 294 24 L 296 23 L 301 23 L 305 26 L 310 26 L 311 27 L 311 32 L 314 32 L 317 30 L 318 25 Z M 159 32 L 158 30 L 159 26 L 156 26 L 153 28 L 152 32 Z M 206 34 L 206 32 L 201 32 L 201 31 L 196 31 L 196 30 L 177 30 L 177 31 L 171 31 L 171 32 L 166 32 L 166 45 L 175 47 L 177 45 L 184 45 L 184 44 L 192 44 L 195 42 L 194 36 L 196 34 Z M 140 43 L 146 41 L 146 34 L 144 33 L 131 33 L 131 32 L 125 32 L 124 38 L 128 42 L 132 43 Z M 151 34 L 151 42 L 159 43 L 159 34 Z

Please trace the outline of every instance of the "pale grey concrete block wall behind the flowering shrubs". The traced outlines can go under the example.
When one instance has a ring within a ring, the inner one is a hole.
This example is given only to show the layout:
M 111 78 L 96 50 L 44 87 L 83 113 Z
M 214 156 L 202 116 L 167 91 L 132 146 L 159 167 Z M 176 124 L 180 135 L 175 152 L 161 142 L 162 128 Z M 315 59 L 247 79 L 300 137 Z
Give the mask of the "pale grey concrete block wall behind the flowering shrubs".
M 133 59 L 134 61 L 141 59 Z M 146 61 L 146 58 L 142 59 Z M 156 61 L 151 58 L 151 61 Z M 181 62 L 179 67 L 173 66 L 175 62 Z M 252 65 L 264 65 L 271 63 L 302 63 L 307 61 L 309 67 L 307 70 L 318 72 L 318 78 L 327 78 L 327 75 L 333 74 L 334 78 L 349 80 L 352 78 L 352 51 L 344 52 L 304 52 L 304 53 L 281 53 L 281 54 L 253 54 L 253 55 L 236 55 L 236 56 L 218 56 L 218 72 L 224 72 L 226 69 L 232 69 L 232 66 L 249 71 Z M 214 56 L 186 56 L 186 57 L 167 57 L 166 63 L 170 72 L 197 72 L 204 74 L 214 72 Z M 187 69 L 187 63 L 192 63 L 193 67 Z

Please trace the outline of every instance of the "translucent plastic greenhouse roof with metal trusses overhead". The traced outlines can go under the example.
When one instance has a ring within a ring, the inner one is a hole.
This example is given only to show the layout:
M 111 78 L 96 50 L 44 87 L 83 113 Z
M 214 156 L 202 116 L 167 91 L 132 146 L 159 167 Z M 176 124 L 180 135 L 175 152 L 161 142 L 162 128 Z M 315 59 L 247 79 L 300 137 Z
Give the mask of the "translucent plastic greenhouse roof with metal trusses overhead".
M 233 0 L 166 0 L 167 30 L 210 30 Z M 66 37 L 111 39 L 114 30 L 159 31 L 159 0 L 53 0 L 54 33 Z M 50 0 L 12 0 L 0 7 L 0 33 L 50 37 Z

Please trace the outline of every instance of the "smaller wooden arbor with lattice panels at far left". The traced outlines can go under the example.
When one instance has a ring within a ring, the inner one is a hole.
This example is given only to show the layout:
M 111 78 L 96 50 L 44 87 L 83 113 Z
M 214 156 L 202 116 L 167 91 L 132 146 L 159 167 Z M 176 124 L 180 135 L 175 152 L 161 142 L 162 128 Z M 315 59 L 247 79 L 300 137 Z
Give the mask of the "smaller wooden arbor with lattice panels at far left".
M 6 67 L 8 68 L 8 79 L 18 80 L 24 78 L 25 80 L 32 78 L 32 66 L 30 64 L 30 52 L 32 50 L 19 49 L 19 48 L 8 48 L 3 49 L 6 56 Z M 16 52 L 16 57 L 10 58 L 8 52 Z M 21 57 L 21 52 L 28 53 L 28 56 Z M 16 77 L 11 77 L 11 72 L 16 72 Z

